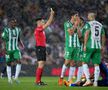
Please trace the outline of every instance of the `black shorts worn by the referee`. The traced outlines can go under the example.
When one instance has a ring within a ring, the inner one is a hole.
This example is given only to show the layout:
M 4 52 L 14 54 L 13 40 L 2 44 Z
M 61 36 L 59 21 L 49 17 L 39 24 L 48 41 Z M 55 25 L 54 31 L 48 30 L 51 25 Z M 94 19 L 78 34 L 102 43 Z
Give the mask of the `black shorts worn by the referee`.
M 37 46 L 36 55 L 38 61 L 46 61 L 46 47 Z

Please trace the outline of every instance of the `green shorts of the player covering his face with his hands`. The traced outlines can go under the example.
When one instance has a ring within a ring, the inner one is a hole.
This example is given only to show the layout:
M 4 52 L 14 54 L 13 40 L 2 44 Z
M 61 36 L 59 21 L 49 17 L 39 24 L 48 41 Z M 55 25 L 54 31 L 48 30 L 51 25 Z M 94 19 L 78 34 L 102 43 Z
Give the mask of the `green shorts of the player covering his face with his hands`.
M 80 48 L 65 48 L 65 60 L 80 60 Z

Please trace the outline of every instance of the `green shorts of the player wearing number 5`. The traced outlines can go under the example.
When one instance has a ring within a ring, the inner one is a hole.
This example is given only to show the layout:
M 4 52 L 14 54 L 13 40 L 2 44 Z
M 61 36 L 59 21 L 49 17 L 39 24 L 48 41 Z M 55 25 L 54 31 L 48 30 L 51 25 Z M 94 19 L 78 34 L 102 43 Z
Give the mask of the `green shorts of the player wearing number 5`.
M 100 64 L 101 62 L 101 50 L 100 49 L 87 49 L 86 52 L 83 52 L 83 62 L 90 62 L 92 60 L 93 64 Z

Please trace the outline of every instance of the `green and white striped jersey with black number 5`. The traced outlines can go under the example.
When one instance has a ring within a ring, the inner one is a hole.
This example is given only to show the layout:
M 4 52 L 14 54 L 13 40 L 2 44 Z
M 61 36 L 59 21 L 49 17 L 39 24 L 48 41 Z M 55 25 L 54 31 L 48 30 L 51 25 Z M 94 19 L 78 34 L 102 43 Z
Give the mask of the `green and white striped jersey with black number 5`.
M 102 24 L 95 20 L 89 21 L 86 24 L 85 29 L 90 30 L 87 47 L 101 49 L 101 37 L 105 34 Z

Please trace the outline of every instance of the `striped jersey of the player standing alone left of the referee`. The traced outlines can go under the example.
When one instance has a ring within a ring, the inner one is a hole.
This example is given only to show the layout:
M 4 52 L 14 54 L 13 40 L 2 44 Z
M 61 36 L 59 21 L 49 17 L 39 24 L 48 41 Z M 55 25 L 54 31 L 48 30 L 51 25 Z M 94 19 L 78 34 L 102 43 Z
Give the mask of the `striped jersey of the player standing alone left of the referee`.
M 6 50 L 19 50 L 18 39 L 20 38 L 21 29 L 15 27 L 14 29 L 5 27 L 2 33 L 2 38 L 6 42 Z

